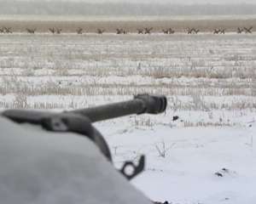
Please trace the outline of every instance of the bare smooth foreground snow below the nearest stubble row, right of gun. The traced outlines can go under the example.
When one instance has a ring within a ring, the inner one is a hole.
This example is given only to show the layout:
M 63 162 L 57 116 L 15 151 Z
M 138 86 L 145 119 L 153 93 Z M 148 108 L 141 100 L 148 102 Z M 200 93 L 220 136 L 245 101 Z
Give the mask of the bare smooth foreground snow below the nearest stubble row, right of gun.
M 147 156 L 145 173 L 132 184 L 152 200 L 238 204 L 256 201 L 256 123 L 250 124 L 148 129 L 106 124 L 99 129 L 117 165 Z

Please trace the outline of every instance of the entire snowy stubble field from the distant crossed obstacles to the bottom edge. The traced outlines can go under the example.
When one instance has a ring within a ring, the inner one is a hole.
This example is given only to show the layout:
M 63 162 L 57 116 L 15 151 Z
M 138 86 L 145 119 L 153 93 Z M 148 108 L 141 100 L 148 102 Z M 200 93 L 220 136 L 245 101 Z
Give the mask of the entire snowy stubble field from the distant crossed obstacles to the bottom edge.
M 255 203 L 255 39 L 0 35 L 0 109 L 70 110 L 165 94 L 165 114 L 96 123 L 115 166 L 145 154 L 146 171 L 132 184 L 154 201 Z

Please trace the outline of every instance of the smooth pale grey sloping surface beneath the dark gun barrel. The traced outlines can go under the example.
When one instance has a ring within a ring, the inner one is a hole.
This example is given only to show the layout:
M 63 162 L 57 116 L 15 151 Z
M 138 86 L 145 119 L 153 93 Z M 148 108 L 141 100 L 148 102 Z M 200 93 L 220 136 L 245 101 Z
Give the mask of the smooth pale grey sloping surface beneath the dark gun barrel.
M 89 139 L 1 116 L 0 130 L 1 203 L 151 203 Z

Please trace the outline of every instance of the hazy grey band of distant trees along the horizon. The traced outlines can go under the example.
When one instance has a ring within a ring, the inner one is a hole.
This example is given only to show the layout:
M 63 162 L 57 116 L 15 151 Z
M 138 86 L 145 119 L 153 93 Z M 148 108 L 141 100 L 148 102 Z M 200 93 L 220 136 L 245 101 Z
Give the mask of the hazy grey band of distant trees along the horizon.
M 0 14 L 49 15 L 232 15 L 256 14 L 256 4 L 83 3 L 0 1 Z

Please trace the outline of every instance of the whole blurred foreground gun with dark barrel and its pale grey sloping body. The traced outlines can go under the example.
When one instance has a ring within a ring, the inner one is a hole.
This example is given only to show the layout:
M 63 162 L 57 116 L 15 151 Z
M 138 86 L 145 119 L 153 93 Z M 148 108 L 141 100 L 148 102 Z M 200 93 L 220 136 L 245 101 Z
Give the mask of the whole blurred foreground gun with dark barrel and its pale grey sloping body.
M 151 203 L 127 182 L 143 171 L 145 157 L 141 156 L 137 165 L 126 161 L 115 171 L 108 144 L 92 122 L 164 111 L 166 97 L 148 94 L 125 102 L 61 113 L 3 111 L 0 115 L 1 202 Z

